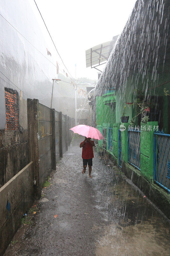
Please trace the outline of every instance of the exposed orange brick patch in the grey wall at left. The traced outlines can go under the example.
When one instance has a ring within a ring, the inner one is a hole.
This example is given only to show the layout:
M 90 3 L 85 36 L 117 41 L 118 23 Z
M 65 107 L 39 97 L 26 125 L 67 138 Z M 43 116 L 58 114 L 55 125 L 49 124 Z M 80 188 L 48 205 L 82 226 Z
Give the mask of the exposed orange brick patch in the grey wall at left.
M 18 92 L 5 88 L 5 110 L 6 125 L 5 130 L 18 130 L 19 114 L 18 114 Z

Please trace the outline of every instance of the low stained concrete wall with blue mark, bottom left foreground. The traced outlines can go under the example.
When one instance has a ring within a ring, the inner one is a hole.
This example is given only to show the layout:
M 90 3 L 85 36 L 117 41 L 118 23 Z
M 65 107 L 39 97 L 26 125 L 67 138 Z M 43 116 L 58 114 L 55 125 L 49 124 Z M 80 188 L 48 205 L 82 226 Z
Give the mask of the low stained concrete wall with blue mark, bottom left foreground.
M 0 255 L 3 255 L 20 226 L 21 218 L 34 201 L 33 162 L 27 164 L 0 188 Z

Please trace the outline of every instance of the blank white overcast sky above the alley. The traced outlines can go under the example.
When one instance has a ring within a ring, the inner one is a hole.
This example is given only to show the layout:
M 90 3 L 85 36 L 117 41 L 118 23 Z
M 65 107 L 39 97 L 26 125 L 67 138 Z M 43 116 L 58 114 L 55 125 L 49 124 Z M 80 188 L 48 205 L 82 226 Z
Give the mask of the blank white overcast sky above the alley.
M 33 0 L 32 0 L 33 1 Z M 85 50 L 119 35 L 136 0 L 36 0 L 58 52 L 72 76 L 97 79 Z M 61 60 L 59 60 L 61 62 Z

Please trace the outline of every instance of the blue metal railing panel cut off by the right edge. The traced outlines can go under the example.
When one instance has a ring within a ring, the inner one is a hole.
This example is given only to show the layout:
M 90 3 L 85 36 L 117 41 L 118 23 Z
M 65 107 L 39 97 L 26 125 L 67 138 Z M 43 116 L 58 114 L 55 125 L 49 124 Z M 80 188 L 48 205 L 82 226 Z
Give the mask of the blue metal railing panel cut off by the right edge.
M 153 180 L 170 194 L 170 134 L 153 133 Z

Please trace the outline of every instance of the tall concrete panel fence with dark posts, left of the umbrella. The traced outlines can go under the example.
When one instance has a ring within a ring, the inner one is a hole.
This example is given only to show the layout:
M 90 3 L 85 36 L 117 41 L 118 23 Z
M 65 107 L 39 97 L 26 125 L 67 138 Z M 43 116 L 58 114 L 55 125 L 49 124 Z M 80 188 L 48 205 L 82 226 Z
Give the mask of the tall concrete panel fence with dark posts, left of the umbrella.
M 27 101 L 29 157 L 33 161 L 36 196 L 40 198 L 46 178 L 68 149 L 72 126 L 70 118 L 62 112 L 48 108 L 36 99 Z

